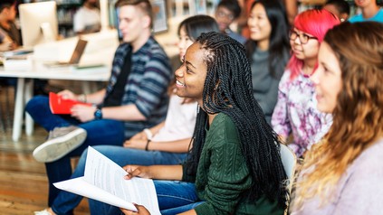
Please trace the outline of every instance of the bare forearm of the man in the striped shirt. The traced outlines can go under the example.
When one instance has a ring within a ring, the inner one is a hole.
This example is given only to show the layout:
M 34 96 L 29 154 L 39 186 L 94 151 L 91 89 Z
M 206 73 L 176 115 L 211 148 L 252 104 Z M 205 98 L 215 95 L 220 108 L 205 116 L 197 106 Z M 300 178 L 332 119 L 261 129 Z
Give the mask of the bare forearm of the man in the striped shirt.
M 121 121 L 142 121 L 147 119 L 139 112 L 136 105 L 102 108 L 102 117 Z

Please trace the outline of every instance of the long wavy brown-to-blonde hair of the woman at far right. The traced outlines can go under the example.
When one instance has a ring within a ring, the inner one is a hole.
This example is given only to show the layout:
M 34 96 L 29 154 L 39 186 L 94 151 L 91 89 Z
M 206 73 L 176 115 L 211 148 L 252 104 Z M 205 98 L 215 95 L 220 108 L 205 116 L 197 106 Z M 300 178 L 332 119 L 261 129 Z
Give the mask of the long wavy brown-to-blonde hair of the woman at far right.
M 341 23 L 324 42 L 340 62 L 342 88 L 329 133 L 302 164 L 292 210 L 314 196 L 329 203 L 349 164 L 383 137 L 383 24 Z

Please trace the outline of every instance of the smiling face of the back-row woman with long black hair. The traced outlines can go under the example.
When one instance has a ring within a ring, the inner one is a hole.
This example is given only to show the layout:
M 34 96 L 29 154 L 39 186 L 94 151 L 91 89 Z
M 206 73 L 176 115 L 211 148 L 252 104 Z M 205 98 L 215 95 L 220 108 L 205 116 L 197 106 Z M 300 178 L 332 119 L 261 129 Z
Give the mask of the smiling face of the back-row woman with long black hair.
M 266 11 L 262 4 L 254 5 L 247 24 L 250 29 L 250 38 L 256 41 L 259 47 L 268 49 L 270 36 L 272 34 L 272 24 L 267 18 Z

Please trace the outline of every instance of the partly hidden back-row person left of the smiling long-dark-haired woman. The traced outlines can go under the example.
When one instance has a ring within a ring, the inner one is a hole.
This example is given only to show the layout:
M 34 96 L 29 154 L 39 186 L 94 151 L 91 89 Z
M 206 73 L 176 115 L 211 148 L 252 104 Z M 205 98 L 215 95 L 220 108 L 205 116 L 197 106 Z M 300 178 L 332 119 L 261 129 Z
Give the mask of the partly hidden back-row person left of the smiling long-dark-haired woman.
M 215 20 L 216 23 L 218 23 L 219 30 L 222 33 L 226 33 L 231 38 L 244 44 L 244 42 L 246 42 L 246 38 L 230 29 L 230 24 L 232 24 L 240 14 L 241 6 L 238 4 L 237 0 L 222 0 L 216 6 Z

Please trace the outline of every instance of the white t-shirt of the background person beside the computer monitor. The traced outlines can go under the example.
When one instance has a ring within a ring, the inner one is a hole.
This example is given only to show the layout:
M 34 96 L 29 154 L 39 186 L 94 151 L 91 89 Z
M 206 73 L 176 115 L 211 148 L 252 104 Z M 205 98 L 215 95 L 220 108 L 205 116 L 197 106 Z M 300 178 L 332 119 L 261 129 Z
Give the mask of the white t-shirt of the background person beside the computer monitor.
M 97 32 L 101 28 L 101 15 L 98 8 L 89 9 L 81 6 L 73 17 L 73 31 Z

